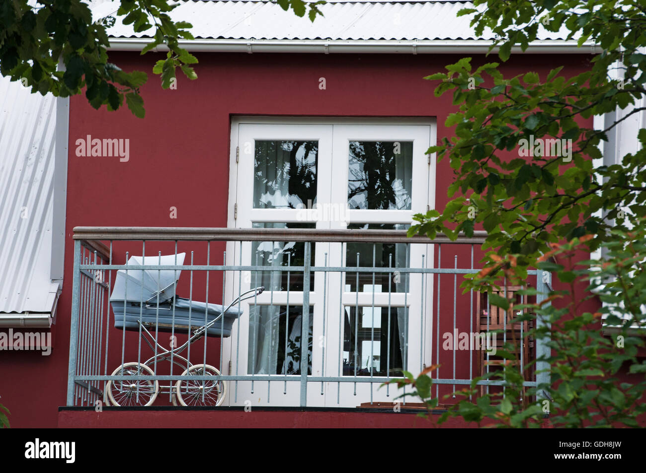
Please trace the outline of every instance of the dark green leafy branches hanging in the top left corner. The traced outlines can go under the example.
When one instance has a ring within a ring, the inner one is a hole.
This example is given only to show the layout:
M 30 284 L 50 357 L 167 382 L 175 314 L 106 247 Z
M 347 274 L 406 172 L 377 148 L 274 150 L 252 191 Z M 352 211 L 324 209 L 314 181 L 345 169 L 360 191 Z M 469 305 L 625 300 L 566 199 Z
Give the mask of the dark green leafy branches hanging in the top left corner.
M 302 0 L 278 0 L 284 10 L 290 8 L 298 16 L 309 9 L 314 21 L 318 6 Z M 116 110 L 125 99 L 137 117 L 143 117 L 140 87 L 147 81 L 141 71 L 124 72 L 109 62 L 107 29 L 116 18 L 132 25 L 134 32 L 147 32 L 151 43 L 141 54 L 158 46 L 168 49 L 166 59 L 153 68 L 161 76 L 161 86 L 169 88 L 176 80 L 179 67 L 189 79 L 197 79 L 193 65 L 197 58 L 180 45 L 181 40 L 193 39 L 192 28 L 186 21 L 174 21 L 171 12 L 180 5 L 168 0 L 121 0 L 116 14 L 92 21 L 89 5 L 81 0 L 0 0 L 0 74 L 21 81 L 32 93 L 52 92 L 57 97 L 81 94 L 94 108 L 106 105 Z M 309 7 L 309 8 L 308 8 Z M 64 70 L 57 70 L 59 60 Z

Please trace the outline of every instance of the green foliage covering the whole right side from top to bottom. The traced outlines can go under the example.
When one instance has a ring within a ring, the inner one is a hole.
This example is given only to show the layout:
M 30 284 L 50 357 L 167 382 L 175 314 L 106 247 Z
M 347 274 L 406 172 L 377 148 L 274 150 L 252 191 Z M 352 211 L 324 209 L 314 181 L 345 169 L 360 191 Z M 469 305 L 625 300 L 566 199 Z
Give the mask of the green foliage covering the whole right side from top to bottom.
M 530 306 L 522 316 L 537 321 L 532 336 L 551 337 L 551 356 L 539 359 L 538 366 L 551 365 L 551 383 L 523 393 L 523 378 L 510 363 L 488 375 L 505 381 L 504 395 L 492 388 L 475 399 L 475 380 L 443 419 L 460 415 L 530 427 L 543 414 L 556 412 L 552 422 L 566 427 L 634 427 L 646 410 L 641 401 L 646 368 L 636 358 L 643 339 L 630 336 L 628 328 L 643 320 L 646 307 L 646 130 L 638 132 L 640 150 L 623 156 L 621 165 L 595 166 L 593 159 L 602 156 L 601 142 L 608 141 L 611 130 L 644 110 L 634 104 L 646 93 L 646 8 L 638 0 L 474 3 L 475 8 L 459 15 L 474 15 L 476 34 L 485 28 L 493 32 L 501 61 L 507 61 L 513 46 L 525 50 L 541 26 L 550 32 L 567 30 L 567 39 L 578 39 L 579 47 L 593 41 L 603 51 L 592 57 L 589 70 L 574 77 L 561 75 L 563 66 L 543 77 L 532 71 L 505 77 L 499 63 L 475 67 L 468 57 L 426 77 L 439 81 L 435 96 L 453 92 L 456 111 L 444 125 L 454 126 L 455 136 L 444 137 L 428 152 L 440 160 L 448 157 L 455 180 L 448 189 L 448 205 L 441 212 L 415 216 L 418 224 L 409 234 L 433 239 L 443 232 L 454 239 L 459 232 L 471 236 L 477 226 L 486 230 L 483 248 L 490 251 L 483 260 L 485 269 L 464 280 L 465 291 L 489 290 L 503 274 L 508 283 L 525 281 L 529 268 L 554 272 L 568 287 L 550 292 L 547 302 Z M 624 116 L 603 130 L 590 126 L 593 116 L 618 109 L 626 110 Z M 541 146 L 527 145 L 532 140 L 541 140 Z M 565 149 L 559 146 L 563 143 Z M 603 248 L 603 259 L 581 261 L 582 250 L 598 248 Z M 555 262 L 558 258 L 568 265 Z M 581 281 L 588 282 L 584 294 L 576 292 Z M 525 294 L 536 295 L 536 290 Z M 581 313 L 581 303 L 590 297 L 599 297 L 603 308 Z M 490 301 L 508 306 L 494 294 Z M 601 334 L 602 314 L 609 314 L 610 325 L 620 323 L 618 315 L 625 321 L 616 328 L 616 337 Z M 507 355 L 511 353 L 509 349 Z M 628 367 L 630 382 L 618 378 L 621 367 Z M 439 399 L 426 390 L 430 378 L 424 376 L 421 397 L 429 407 L 437 406 Z M 396 382 L 419 392 L 419 379 Z M 536 395 L 544 401 L 527 401 Z

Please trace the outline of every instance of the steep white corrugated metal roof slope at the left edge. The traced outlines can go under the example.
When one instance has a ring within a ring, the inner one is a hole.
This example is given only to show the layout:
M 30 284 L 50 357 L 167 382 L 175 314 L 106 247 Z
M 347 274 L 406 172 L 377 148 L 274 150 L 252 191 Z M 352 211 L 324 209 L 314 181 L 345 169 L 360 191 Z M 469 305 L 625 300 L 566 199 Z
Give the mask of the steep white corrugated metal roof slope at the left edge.
M 0 77 L 0 312 L 52 312 L 56 98 Z

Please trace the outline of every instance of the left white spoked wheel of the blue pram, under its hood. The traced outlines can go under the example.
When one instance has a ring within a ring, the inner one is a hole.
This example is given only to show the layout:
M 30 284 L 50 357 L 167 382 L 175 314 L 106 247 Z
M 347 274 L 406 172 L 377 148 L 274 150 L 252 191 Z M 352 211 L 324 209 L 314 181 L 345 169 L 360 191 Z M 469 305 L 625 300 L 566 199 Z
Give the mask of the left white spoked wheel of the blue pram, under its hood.
M 123 374 L 121 370 L 123 369 Z M 123 363 L 112 372 L 112 376 L 154 375 L 151 368 L 143 363 L 132 361 Z M 150 406 L 160 390 L 158 381 L 108 381 L 105 385 L 108 398 L 114 406 Z

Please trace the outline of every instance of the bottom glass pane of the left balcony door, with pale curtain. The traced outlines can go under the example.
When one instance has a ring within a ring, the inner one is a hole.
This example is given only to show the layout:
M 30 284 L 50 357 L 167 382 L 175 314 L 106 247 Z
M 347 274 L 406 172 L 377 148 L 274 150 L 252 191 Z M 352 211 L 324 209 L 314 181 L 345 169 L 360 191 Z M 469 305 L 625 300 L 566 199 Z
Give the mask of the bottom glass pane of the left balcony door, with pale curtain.
M 312 325 L 309 308 L 307 374 L 312 374 Z M 248 374 L 300 374 L 302 306 L 251 306 Z

